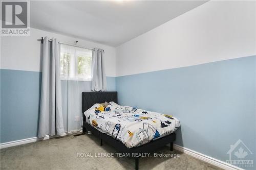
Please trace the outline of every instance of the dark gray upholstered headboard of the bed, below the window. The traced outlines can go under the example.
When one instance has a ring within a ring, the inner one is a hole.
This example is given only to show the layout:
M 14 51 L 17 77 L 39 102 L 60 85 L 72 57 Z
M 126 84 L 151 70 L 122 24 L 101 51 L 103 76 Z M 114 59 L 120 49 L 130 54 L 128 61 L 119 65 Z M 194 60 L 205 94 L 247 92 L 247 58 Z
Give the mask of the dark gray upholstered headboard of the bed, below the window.
M 117 91 L 82 92 L 82 114 L 95 103 L 104 102 L 117 103 Z

